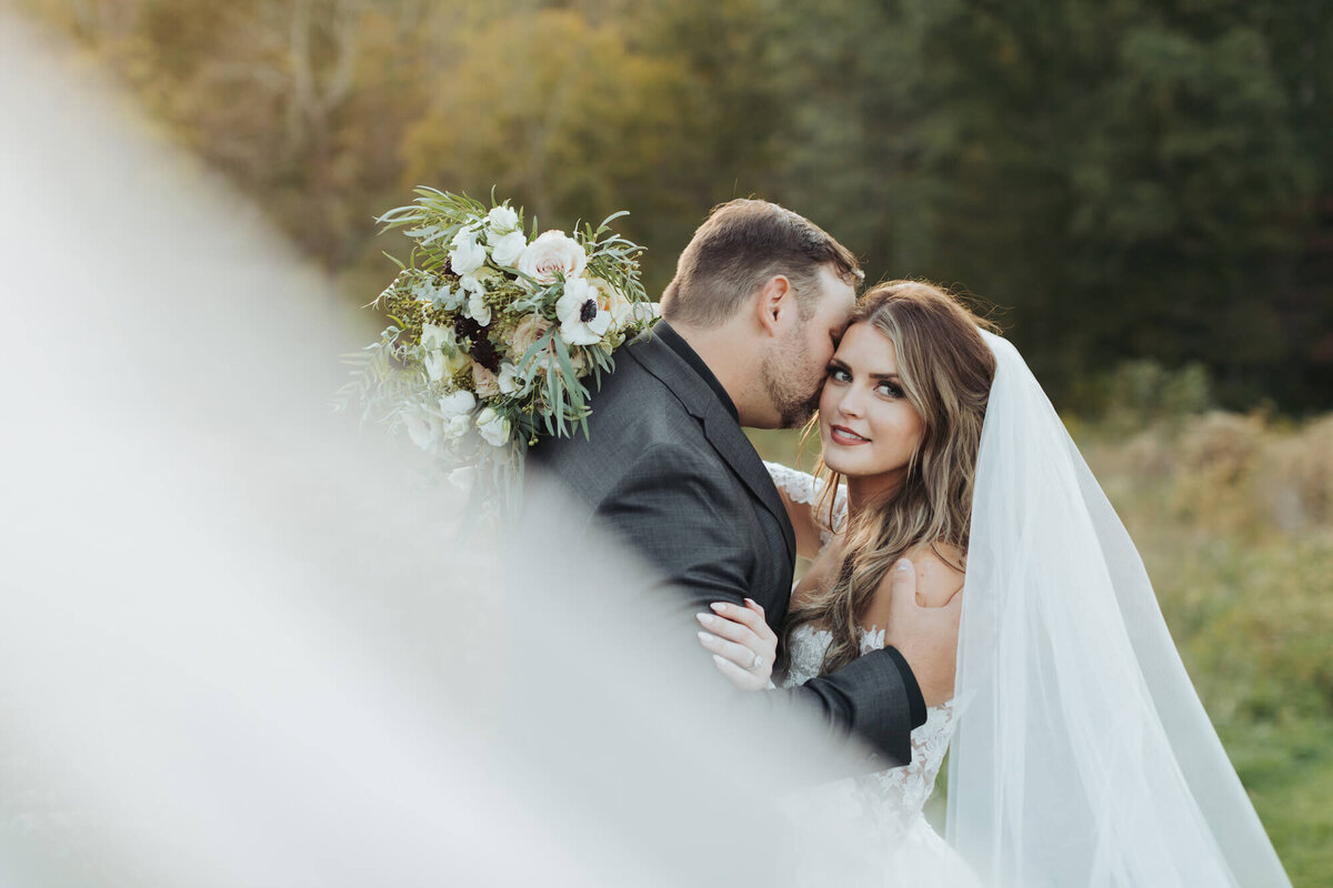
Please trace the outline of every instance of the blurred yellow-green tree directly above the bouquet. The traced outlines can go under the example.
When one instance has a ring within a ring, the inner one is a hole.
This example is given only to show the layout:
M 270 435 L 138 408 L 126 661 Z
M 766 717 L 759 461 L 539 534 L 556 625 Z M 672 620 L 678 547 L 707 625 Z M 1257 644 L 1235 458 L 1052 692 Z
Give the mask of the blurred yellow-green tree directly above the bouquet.
M 544 226 L 631 209 L 620 230 L 656 246 L 678 234 L 688 200 L 676 186 L 698 168 L 686 80 L 678 63 L 575 12 L 459 32 L 432 72 L 429 109 L 405 133 L 403 182 L 495 185 Z

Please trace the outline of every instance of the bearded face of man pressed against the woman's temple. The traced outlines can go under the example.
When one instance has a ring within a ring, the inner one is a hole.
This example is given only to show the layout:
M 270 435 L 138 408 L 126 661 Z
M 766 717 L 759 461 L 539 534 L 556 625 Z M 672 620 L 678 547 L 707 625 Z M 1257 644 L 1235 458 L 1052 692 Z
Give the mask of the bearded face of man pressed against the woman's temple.
M 810 314 L 788 328 L 780 350 L 764 365 L 764 382 L 782 429 L 802 425 L 818 407 L 829 359 L 856 306 L 856 290 L 826 265 L 820 269 L 818 286 Z

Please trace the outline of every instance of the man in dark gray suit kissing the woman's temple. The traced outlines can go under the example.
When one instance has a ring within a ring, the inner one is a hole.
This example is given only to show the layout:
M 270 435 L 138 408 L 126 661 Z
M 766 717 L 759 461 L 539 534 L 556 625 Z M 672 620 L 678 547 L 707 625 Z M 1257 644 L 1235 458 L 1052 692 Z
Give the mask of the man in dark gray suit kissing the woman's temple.
M 812 415 L 861 277 L 845 246 L 790 210 L 718 206 L 680 256 L 663 320 L 617 353 L 593 395 L 589 437 L 544 439 L 535 465 L 697 610 L 752 598 L 778 630 L 796 539 L 741 426 L 790 429 Z M 894 582 L 908 606 L 884 650 L 774 694 L 906 763 L 926 703 L 952 692 L 957 624 L 916 607 L 912 571 Z M 682 632 L 696 628 L 681 620 Z

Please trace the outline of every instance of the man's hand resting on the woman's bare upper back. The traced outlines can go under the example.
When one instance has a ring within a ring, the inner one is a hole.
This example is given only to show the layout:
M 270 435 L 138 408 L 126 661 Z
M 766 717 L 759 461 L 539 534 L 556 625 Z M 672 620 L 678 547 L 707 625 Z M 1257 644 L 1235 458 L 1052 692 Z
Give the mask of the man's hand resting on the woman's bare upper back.
M 917 603 L 917 575 L 912 562 L 904 558 L 890 571 L 884 644 L 896 647 L 912 667 L 926 706 L 940 706 L 953 698 L 961 615 L 961 594 L 950 598 L 944 607 L 921 607 Z

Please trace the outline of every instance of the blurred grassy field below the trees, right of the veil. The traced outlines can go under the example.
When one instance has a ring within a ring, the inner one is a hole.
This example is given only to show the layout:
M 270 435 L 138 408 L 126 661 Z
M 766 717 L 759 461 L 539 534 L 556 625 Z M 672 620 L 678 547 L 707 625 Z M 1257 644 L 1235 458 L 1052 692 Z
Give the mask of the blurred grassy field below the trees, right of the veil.
M 1293 884 L 1330 884 L 1333 415 L 1109 411 L 1068 425 Z M 753 439 L 765 458 L 797 458 L 794 433 Z

